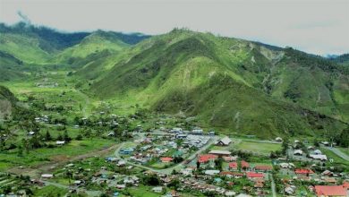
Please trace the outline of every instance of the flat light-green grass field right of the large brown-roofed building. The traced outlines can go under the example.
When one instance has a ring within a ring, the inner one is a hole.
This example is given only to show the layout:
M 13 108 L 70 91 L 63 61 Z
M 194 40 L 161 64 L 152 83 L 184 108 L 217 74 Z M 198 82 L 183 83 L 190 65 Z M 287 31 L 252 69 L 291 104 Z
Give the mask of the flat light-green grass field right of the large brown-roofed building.
M 240 143 L 234 145 L 234 149 L 256 152 L 260 154 L 269 154 L 271 151 L 281 150 L 281 144 L 241 141 Z

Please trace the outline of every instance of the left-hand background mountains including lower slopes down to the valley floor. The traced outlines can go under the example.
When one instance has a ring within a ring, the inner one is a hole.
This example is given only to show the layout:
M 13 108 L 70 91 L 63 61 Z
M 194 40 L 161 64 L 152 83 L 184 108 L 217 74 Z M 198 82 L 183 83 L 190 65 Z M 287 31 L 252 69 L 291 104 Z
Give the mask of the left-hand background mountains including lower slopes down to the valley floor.
M 115 56 L 147 38 L 140 33 L 66 33 L 24 22 L 12 26 L 0 23 L 0 72 L 4 73 L 0 81 L 19 80 L 28 73 L 52 68 L 81 68 L 82 79 L 92 79 L 104 71 L 105 64 L 98 64 L 98 59 Z

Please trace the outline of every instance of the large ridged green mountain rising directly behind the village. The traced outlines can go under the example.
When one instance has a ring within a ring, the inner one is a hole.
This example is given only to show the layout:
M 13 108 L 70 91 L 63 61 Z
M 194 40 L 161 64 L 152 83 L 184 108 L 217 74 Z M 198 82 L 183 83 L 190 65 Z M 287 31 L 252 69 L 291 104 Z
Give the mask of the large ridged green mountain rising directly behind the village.
M 319 56 L 189 30 L 125 53 L 91 85 L 96 96 L 261 137 L 339 133 L 349 121 L 348 73 Z

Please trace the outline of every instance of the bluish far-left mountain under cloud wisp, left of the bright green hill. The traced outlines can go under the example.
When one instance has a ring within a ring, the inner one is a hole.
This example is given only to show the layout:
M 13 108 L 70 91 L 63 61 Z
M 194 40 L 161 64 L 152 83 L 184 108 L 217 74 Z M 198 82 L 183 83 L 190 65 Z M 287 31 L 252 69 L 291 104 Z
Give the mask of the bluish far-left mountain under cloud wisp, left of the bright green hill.
M 19 22 L 12 26 L 0 23 L 0 35 L 0 50 L 23 61 L 43 62 L 51 54 L 78 44 L 89 33 L 63 33 Z

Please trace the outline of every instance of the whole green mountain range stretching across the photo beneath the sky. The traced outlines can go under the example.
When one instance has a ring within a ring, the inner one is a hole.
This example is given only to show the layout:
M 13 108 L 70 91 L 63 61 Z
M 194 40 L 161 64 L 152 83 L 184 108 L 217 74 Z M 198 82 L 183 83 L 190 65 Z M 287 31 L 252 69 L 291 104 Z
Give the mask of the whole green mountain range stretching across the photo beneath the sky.
M 93 97 L 264 138 L 340 133 L 349 123 L 343 58 L 178 29 L 148 37 L 19 23 L 0 33 L 0 81 L 55 67 Z

